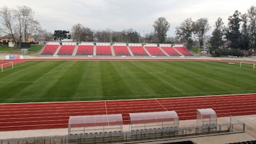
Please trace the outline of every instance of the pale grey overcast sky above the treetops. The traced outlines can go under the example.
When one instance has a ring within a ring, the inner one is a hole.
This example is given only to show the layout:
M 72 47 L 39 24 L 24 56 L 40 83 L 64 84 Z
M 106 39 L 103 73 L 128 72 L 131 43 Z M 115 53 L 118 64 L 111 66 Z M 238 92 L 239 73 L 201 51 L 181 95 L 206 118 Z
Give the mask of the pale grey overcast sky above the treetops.
M 186 18 L 208 18 L 211 29 L 218 17 L 225 25 L 235 10 L 247 13 L 255 0 L 0 0 L 0 7 L 29 6 L 43 29 L 68 30 L 77 23 L 93 30 L 132 28 L 142 35 L 152 32 L 154 21 L 164 17 L 171 24 L 168 36 Z

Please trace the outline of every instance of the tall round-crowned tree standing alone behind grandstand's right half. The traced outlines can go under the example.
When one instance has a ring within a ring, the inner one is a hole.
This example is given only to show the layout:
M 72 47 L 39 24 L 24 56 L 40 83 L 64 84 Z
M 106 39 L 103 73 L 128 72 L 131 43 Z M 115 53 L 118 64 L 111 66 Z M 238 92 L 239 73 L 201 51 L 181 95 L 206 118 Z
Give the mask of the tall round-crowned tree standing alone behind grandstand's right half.
M 166 18 L 161 17 L 154 22 L 153 26 L 157 38 L 159 39 L 159 43 L 164 43 L 167 36 L 166 33 L 170 28 L 170 23 L 166 20 Z

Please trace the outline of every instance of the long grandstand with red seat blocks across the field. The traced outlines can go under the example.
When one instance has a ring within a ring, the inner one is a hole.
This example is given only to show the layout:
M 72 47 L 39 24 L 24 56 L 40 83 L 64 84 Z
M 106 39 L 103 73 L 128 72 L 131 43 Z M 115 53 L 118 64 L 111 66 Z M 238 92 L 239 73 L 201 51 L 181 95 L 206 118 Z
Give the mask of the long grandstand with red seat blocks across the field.
M 49 42 L 40 55 L 58 56 L 193 56 L 183 45 L 142 43 L 59 43 Z

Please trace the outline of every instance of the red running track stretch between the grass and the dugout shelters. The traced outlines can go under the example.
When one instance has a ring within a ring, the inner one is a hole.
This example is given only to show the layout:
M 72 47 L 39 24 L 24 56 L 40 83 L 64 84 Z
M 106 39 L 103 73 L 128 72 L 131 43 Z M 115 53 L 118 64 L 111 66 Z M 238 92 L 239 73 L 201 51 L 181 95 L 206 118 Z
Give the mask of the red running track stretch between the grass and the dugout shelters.
M 212 108 L 218 117 L 256 114 L 256 94 L 169 99 L 0 104 L 0 131 L 68 128 L 69 116 L 176 111 L 180 120 L 196 119 L 196 109 Z

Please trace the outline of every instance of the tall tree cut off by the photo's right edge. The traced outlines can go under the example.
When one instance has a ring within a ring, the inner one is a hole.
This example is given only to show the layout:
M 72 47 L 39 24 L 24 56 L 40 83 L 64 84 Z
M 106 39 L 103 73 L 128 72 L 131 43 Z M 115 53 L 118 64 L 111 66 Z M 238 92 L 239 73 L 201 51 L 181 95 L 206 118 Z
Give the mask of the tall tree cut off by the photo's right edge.
M 256 6 L 251 6 L 247 13 L 250 48 L 256 50 Z

